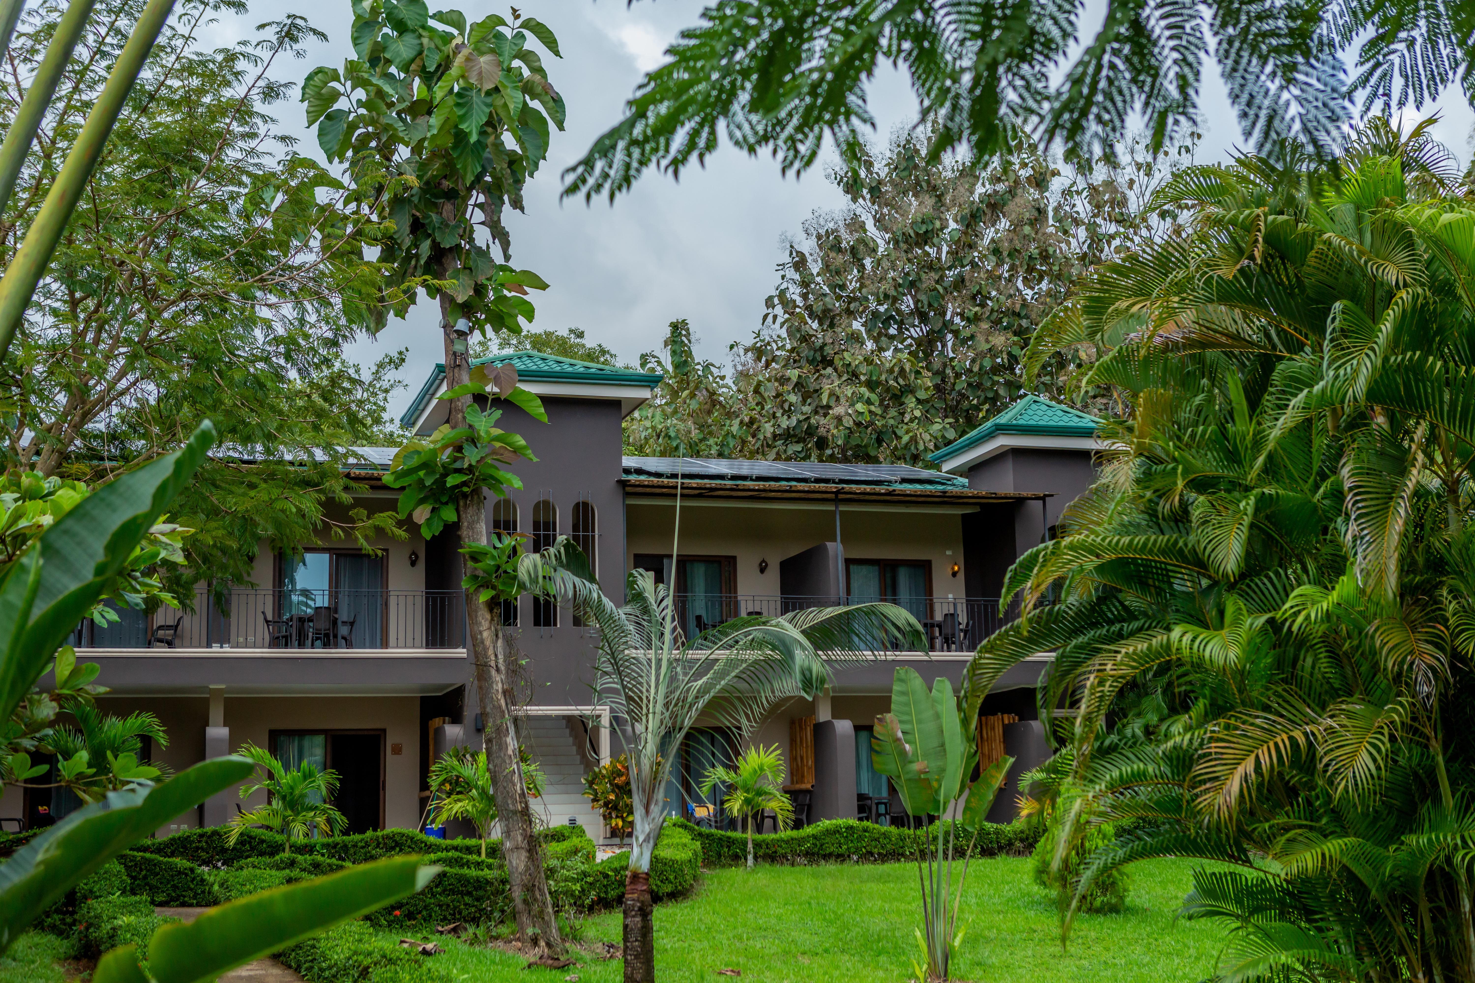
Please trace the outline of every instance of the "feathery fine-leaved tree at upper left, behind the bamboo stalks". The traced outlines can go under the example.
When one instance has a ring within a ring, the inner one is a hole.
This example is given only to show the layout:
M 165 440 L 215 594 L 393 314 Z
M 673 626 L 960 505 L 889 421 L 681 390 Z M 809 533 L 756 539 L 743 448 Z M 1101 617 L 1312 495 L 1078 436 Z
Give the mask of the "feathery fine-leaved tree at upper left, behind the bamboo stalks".
M 142 7 L 100 0 L 86 22 L 0 220 L 0 261 L 35 221 Z M 0 363 L 7 467 L 102 480 L 215 421 L 236 457 L 208 461 L 176 503 L 199 531 L 177 588 L 249 582 L 261 538 L 311 539 L 324 504 L 354 489 L 339 467 L 347 448 L 382 442 L 401 364 L 391 355 L 364 371 L 342 357 L 367 323 L 375 223 L 344 212 L 348 192 L 268 115 L 292 90 L 271 78 L 279 60 L 322 35 L 288 16 L 258 40 L 205 49 L 209 16 L 237 7 L 180 3 Z M 65 10 L 46 0 L 21 19 L 0 74 L 7 121 Z M 335 531 L 366 539 L 382 528 L 364 516 Z

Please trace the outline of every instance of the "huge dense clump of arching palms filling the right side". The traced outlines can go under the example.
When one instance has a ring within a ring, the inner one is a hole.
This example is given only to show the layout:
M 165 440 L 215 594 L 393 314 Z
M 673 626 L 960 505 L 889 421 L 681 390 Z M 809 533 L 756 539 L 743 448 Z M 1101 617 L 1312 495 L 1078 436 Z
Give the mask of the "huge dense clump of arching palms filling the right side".
M 1065 828 L 1134 821 L 1077 902 L 1139 858 L 1235 865 L 1186 906 L 1232 927 L 1221 979 L 1475 973 L 1475 206 L 1426 131 L 1183 174 L 1192 236 L 1105 265 L 1031 349 L 1099 345 L 1081 385 L 1127 413 L 968 702 L 1056 653 Z

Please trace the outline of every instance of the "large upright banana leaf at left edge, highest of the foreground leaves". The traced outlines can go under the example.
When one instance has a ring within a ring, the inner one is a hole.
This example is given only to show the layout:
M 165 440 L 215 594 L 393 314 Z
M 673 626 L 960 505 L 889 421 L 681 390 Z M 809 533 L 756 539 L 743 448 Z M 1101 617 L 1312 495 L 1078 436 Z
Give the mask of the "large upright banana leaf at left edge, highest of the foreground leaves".
M 215 442 L 206 420 L 189 442 L 84 498 L 0 581 L 0 719 L 108 590 L 143 535 Z

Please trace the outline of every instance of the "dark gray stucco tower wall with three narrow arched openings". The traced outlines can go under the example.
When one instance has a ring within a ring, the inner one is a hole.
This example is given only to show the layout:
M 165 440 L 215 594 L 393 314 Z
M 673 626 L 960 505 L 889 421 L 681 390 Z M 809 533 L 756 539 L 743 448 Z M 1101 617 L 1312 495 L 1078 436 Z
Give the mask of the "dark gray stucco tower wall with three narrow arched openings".
M 503 416 L 497 423 L 504 430 L 521 433 L 538 457 L 537 461 L 506 466 L 522 479 L 522 488 L 510 492 L 518 504 L 518 528 L 532 532 L 534 506 L 540 498 L 550 498 L 558 507 L 558 531 L 569 535 L 574 531 L 574 504 L 591 503 L 599 531 L 599 585 L 608 597 L 622 601 L 625 514 L 620 485 L 620 401 L 546 398 L 543 407 L 547 423 L 510 405 L 502 407 Z M 490 497 L 487 528 L 491 528 Z M 558 613 L 556 626 L 538 628 L 532 620 L 532 601 L 524 597 L 518 612 L 518 647 L 527 659 L 531 702 L 543 706 L 590 704 L 593 631 L 574 626 L 574 618 L 566 610 Z

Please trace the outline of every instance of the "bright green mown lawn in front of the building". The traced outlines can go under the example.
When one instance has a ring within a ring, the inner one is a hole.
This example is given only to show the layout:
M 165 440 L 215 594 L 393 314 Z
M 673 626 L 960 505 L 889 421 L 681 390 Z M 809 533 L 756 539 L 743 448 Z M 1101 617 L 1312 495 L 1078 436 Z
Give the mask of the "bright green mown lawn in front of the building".
M 1210 976 L 1223 928 L 1176 921 L 1189 889 L 1189 861 L 1133 868 L 1128 909 L 1083 915 L 1061 951 L 1053 905 L 1028 877 L 1028 861 L 975 861 L 965 893 L 968 930 L 957 980 L 1050 983 L 1195 983 Z M 751 983 L 900 983 L 912 973 L 919 924 L 917 875 L 909 864 L 879 867 L 760 867 L 708 871 L 696 893 L 656 906 L 656 974 L 667 980 Z M 620 914 L 584 923 L 587 942 L 620 939 Z M 618 961 L 578 970 L 528 970 L 494 949 L 450 945 L 444 958 L 478 983 L 617 983 Z

